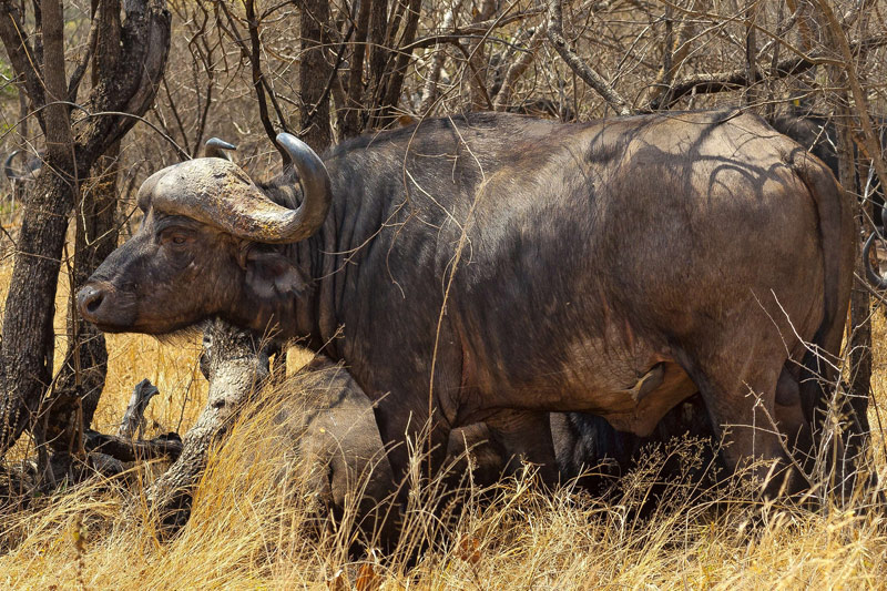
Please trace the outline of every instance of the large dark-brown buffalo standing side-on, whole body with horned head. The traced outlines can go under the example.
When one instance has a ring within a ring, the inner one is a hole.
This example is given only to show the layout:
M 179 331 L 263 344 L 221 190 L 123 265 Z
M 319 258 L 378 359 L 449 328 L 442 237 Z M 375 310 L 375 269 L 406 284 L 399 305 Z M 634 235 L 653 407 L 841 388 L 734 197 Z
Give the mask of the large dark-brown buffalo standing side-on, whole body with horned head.
M 480 113 L 323 160 L 278 144 L 289 162 L 267 183 L 212 157 L 147 179 L 142 227 L 79 292 L 83 316 L 304 337 L 374 400 L 396 477 L 407 439 L 439 462 L 480 420 L 553 469 L 549 411 L 645 435 L 696 390 L 730 427 L 728 466 L 789 466 L 778 431 L 809 449 L 807 343 L 840 346 L 853 204 L 756 115 Z

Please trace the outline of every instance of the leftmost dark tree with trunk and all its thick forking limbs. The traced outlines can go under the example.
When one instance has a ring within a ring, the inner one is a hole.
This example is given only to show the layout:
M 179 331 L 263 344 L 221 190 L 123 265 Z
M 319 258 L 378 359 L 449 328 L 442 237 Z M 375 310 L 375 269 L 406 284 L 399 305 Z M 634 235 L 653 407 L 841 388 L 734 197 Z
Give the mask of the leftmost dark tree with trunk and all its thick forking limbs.
M 43 60 L 34 62 L 30 55 L 40 52 L 21 37 L 26 30 L 21 11 L 8 0 L 0 1 L 0 39 L 47 136 L 47 165 L 27 200 L 3 317 L 0 455 L 33 425 L 52 381 L 57 284 L 68 216 L 78 201 L 80 182 L 96 159 L 134 124 L 132 118 L 116 114 L 84 119 L 77 137 L 72 137 L 70 106 L 62 101 L 77 98 L 83 70 L 75 69 L 70 81 L 65 77 L 60 0 L 44 0 L 39 8 L 40 30 L 34 39 L 42 39 Z M 101 2 L 96 14 L 90 37 L 93 32 L 99 38 L 104 35 L 113 51 L 96 53 L 104 73 L 86 100 L 86 110 L 141 115 L 154 99 L 166 63 L 170 13 L 165 2 L 128 1 L 122 28 L 120 2 Z M 89 49 L 93 50 L 91 44 Z

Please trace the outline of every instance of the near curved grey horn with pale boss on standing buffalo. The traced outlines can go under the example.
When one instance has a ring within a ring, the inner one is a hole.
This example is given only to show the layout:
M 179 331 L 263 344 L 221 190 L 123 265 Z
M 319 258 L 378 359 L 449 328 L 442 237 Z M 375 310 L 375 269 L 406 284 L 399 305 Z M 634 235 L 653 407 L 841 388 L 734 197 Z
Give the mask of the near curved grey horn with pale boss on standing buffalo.
M 243 169 L 217 157 L 188 160 L 155 172 L 139 188 L 139 206 L 198 220 L 253 242 L 305 240 L 320 228 L 329 211 L 329 175 L 302 141 L 286 133 L 277 141 L 302 184 L 302 205 L 295 210 L 271 201 Z

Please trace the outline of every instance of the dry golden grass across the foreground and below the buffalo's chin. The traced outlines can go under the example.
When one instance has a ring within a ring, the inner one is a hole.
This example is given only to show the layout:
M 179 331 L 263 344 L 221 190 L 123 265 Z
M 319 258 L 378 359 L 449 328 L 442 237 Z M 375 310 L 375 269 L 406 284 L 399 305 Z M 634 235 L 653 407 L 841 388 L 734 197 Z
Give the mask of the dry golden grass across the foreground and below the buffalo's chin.
M 3 284 L 8 267 L 0 269 Z M 63 288 L 59 333 L 65 297 Z M 875 329 L 880 403 L 887 387 L 880 314 Z M 63 350 L 61 339 L 59 345 Z M 109 348 L 99 428 L 115 424 L 143 377 L 162 391 L 149 411 L 151 431 L 184 430 L 195 419 L 206 390 L 195 370 L 196 339 L 163 345 L 112 336 Z M 687 502 L 676 485 L 664 495 L 669 502 L 641 519 L 634 501 L 604 503 L 569 487 L 540 491 L 531 472 L 487 491 L 483 502 L 478 491 L 467 490 L 465 502 L 447 506 L 446 522 L 425 510 L 440 496 L 429 487 L 409 512 L 411 536 L 394 558 L 356 560 L 347 551 L 353 531 L 318 524 L 313 491 L 293 457 L 295 444 L 276 432 L 273 417 L 273 408 L 261 410 L 214 451 L 191 521 L 171 542 L 156 541 L 143 519 L 142 491 L 152 477 L 145 467 L 134 467 L 129 479 L 95 480 L 37 499 L 32 510 L 0 516 L 0 587 L 859 589 L 881 588 L 887 580 L 887 527 L 878 510 L 751 508 L 734 502 L 743 497 L 737 490 L 720 491 L 713 509 Z M 877 425 L 875 409 L 871 419 Z M 874 440 L 874 462 L 884 477 L 880 431 Z M 654 472 L 651 461 L 650 470 L 626 480 L 626 498 L 642 498 Z

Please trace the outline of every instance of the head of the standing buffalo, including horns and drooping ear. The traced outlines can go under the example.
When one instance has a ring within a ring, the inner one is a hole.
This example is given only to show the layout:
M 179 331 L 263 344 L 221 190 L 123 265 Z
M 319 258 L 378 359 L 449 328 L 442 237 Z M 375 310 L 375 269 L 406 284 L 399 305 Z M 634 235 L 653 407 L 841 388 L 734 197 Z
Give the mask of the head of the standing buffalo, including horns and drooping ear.
M 213 315 L 266 328 L 284 302 L 292 305 L 305 288 L 296 263 L 274 245 L 317 232 L 332 197 L 317 154 L 287 133 L 277 143 L 298 183 L 287 170 L 262 188 L 220 157 L 222 149 L 233 149 L 224 142 L 207 146 L 215 157 L 151 175 L 139 190 L 142 226 L 80 289 L 82 316 L 105 332 L 165 334 Z M 302 198 L 295 208 L 268 196 L 296 203 L 296 184 Z

